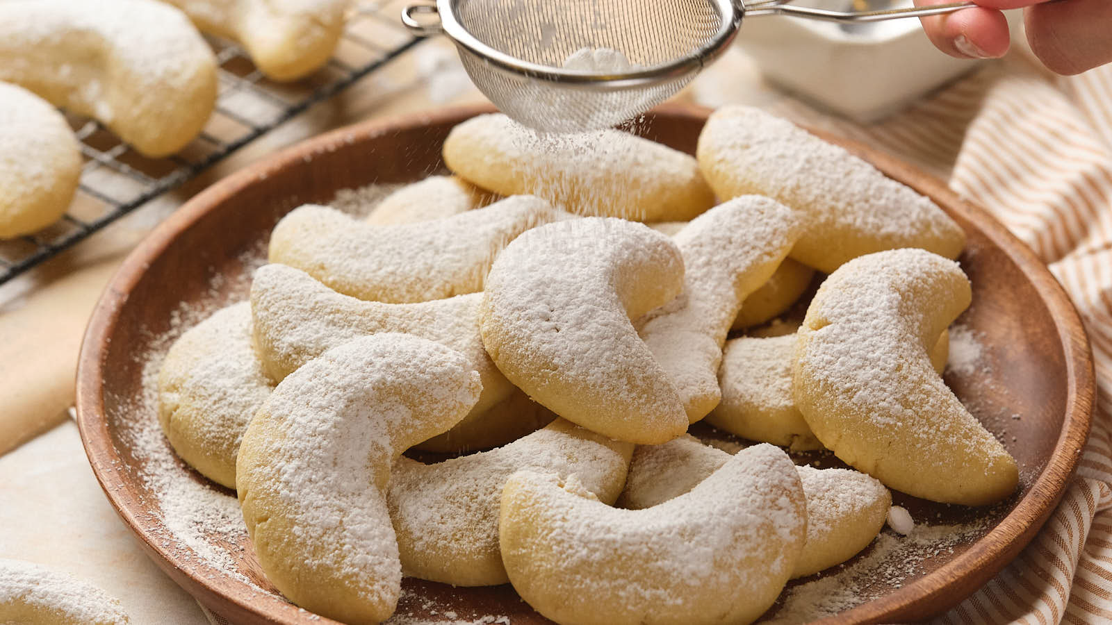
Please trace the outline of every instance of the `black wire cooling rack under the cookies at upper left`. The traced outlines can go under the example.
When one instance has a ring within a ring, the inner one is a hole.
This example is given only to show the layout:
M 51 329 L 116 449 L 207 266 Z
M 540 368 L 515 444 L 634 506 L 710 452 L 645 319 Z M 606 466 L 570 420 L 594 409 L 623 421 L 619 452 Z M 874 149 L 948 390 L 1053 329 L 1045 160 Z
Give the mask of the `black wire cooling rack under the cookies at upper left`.
M 242 48 L 207 37 L 220 90 L 205 130 L 178 153 L 146 158 L 88 118 L 69 116 L 85 165 L 77 196 L 53 226 L 0 240 L 0 285 L 178 187 L 236 149 L 378 70 L 415 46 L 398 16 L 405 0 L 360 2 L 328 63 L 296 82 L 272 82 Z

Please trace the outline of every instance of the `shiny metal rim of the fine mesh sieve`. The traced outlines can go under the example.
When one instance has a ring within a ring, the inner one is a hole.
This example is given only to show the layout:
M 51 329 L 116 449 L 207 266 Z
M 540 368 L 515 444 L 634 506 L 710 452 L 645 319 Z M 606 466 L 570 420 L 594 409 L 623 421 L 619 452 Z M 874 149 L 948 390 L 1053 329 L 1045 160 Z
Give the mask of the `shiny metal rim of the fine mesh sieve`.
M 714 36 L 691 54 L 674 61 L 637 70 L 620 73 L 598 73 L 534 63 L 492 48 L 471 34 L 456 19 L 455 4 L 458 2 L 459 0 L 436 0 L 436 11 L 440 18 L 440 27 L 445 34 L 451 38 L 457 46 L 469 53 L 478 56 L 484 62 L 504 71 L 536 80 L 558 82 L 566 87 L 595 91 L 639 89 L 675 80 L 693 71 L 701 70 L 703 66 L 717 59 L 734 40 L 734 37 L 737 36 L 737 27 L 745 12 L 745 4 L 742 0 L 711 0 L 722 16 L 721 23 Z

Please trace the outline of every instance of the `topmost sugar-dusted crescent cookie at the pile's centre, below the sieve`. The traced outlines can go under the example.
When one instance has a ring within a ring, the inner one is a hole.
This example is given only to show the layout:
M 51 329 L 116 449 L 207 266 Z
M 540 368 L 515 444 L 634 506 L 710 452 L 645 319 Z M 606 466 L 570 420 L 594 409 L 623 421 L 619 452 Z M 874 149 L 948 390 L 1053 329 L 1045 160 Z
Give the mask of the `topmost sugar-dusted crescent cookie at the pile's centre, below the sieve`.
M 525 232 L 487 276 L 483 344 L 498 369 L 557 415 L 631 443 L 687 429 L 665 370 L 631 319 L 673 299 L 684 264 L 643 224 L 586 217 Z

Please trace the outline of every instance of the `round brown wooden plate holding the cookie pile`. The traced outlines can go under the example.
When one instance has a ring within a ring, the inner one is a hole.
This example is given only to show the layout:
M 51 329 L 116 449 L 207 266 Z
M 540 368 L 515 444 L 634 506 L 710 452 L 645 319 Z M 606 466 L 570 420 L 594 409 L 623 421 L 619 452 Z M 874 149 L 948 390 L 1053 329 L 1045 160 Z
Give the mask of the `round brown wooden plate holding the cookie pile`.
M 148 427 L 155 418 L 149 406 L 146 413 L 136 408 L 142 395 L 141 356 L 165 349 L 158 337 L 172 329 L 183 305 L 215 306 L 242 298 L 250 258 L 265 249 L 270 229 L 287 211 L 305 202 L 328 202 L 338 189 L 411 181 L 440 170 L 440 145 L 448 130 L 486 110 L 450 109 L 354 126 L 224 179 L 186 204 L 128 257 L 93 312 L 77 389 L 78 424 L 92 469 L 155 562 L 202 604 L 234 623 L 331 622 L 284 601 L 266 582 L 242 537 L 238 544 L 225 545 L 230 564 L 224 568 L 175 544 L 157 494 L 145 478 L 150 460 L 136 449 L 136 424 Z M 707 113 L 665 107 L 647 116 L 638 132 L 694 152 Z M 1076 467 L 1089 431 L 1092 359 L 1065 292 L 1039 259 L 983 209 L 892 157 L 842 139 L 826 139 L 932 197 L 967 232 L 961 262 L 973 282 L 973 305 L 959 323 L 980 337 L 983 366 L 947 374 L 946 380 L 1021 466 L 1021 490 L 992 510 L 940 506 L 897 494 L 897 502 L 921 520 L 989 519 L 949 549 L 923 559 L 903 587 L 886 586 L 884 576 L 876 575 L 868 589 L 876 598 L 836 618 L 840 623 L 917 619 L 973 593 L 1012 560 L 1046 520 Z M 156 443 L 165 445 L 158 436 Z M 180 463 L 171 469 L 207 484 Z M 235 575 L 225 571 L 229 567 Z M 513 623 L 545 622 L 508 585 L 453 588 L 407 579 L 405 588 L 399 612 L 417 617 L 496 615 Z

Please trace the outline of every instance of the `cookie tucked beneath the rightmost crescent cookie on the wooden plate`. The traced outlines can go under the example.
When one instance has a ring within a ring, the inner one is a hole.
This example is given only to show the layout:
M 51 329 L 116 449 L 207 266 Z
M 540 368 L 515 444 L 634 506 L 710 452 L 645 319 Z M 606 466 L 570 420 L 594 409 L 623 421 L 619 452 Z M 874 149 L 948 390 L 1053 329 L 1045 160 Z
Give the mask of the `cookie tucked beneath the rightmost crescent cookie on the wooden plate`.
M 722 401 L 706 423 L 749 440 L 800 452 L 821 449 L 822 443 L 792 398 L 795 344 L 795 334 L 727 340 L 718 368 Z M 950 334 L 943 330 L 931 349 L 931 365 L 939 375 L 946 366 L 949 347 Z

